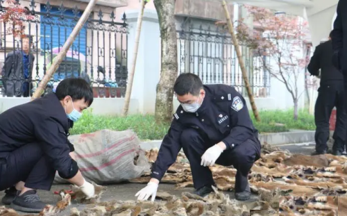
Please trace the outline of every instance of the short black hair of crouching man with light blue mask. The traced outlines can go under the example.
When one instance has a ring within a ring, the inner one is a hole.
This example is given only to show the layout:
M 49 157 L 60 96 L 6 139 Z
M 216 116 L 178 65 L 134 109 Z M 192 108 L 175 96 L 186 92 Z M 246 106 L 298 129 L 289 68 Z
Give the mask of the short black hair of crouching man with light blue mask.
M 70 96 L 72 101 L 85 99 L 88 106 L 93 103 L 92 87 L 83 78 L 65 78 L 56 89 L 56 96 L 61 101 L 65 97 Z

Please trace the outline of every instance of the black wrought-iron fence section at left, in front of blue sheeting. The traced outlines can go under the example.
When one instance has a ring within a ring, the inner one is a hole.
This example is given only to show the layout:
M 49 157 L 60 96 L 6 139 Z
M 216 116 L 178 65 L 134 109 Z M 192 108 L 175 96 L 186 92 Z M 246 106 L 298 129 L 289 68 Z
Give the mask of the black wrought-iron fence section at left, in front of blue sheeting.
M 24 8 L 21 2 L 16 0 L 15 6 Z M 18 28 L 14 20 L 1 22 L 1 89 L 5 97 L 28 97 L 33 94 L 83 13 L 77 5 L 74 8 L 66 8 L 63 3 L 52 6 L 50 1 L 36 3 L 32 0 L 30 7 L 24 9 L 25 13 L 16 19 L 23 22 L 25 33 L 33 37 L 27 61 L 24 60 L 24 39 L 12 31 Z M 0 0 L 0 15 L 5 15 L 6 11 L 8 8 Z M 106 14 L 100 10 L 97 15 L 92 13 L 51 78 L 46 92 L 55 90 L 66 77 L 82 77 L 90 81 L 94 97 L 123 97 L 128 76 L 125 14 L 122 20 L 116 22 L 113 12 Z M 11 55 L 15 58 L 10 58 Z

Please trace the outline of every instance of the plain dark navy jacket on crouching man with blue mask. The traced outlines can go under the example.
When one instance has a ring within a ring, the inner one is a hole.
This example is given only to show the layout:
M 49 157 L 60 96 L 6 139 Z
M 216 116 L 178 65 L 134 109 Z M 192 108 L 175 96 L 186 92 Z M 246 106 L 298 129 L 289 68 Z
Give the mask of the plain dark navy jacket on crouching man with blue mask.
M 67 140 L 71 123 L 56 94 L 51 93 L 0 114 L 0 158 L 28 143 L 38 143 L 62 178 L 74 177 L 74 147 Z

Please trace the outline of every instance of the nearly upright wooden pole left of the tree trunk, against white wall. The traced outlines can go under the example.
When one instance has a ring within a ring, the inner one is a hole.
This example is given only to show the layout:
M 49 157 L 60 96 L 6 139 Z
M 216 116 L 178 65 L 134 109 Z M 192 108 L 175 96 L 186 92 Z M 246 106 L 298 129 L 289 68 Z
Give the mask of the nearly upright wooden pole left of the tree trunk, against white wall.
M 141 13 L 139 13 L 139 16 L 137 17 L 137 29 L 136 29 L 136 35 L 135 35 L 135 45 L 133 50 L 134 56 L 130 64 L 130 73 L 128 74 L 128 83 L 126 85 L 126 96 L 124 98 L 124 108 L 123 108 L 124 116 L 128 115 L 128 110 L 129 110 L 131 90 L 133 89 L 133 81 L 134 81 L 134 74 L 135 74 L 135 68 L 136 68 L 137 51 L 139 49 L 139 36 L 141 35 L 142 17 L 144 16 L 144 6 L 146 5 L 146 1 L 147 0 L 141 1 Z

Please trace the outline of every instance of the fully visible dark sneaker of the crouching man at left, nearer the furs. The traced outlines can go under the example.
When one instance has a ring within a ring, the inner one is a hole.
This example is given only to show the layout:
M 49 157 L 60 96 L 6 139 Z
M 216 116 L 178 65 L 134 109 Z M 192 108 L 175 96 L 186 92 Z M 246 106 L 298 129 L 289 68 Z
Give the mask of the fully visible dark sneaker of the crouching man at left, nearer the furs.
M 40 213 L 45 206 L 46 204 L 40 201 L 40 197 L 36 194 L 36 190 L 28 190 L 16 196 L 10 204 L 10 208 L 24 213 Z

